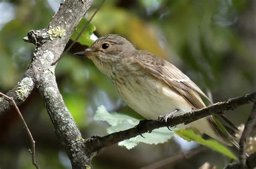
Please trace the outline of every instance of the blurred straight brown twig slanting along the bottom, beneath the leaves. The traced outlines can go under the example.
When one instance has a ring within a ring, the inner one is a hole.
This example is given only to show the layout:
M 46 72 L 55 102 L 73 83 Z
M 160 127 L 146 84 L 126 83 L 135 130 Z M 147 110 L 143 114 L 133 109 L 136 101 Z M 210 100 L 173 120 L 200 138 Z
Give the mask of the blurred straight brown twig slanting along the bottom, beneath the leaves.
M 173 164 L 173 163 L 175 163 L 175 162 L 177 162 L 181 159 L 194 156 L 194 155 L 196 155 L 200 152 L 206 151 L 206 150 L 208 150 L 207 147 L 201 146 L 201 147 L 198 147 L 198 148 L 194 148 L 190 151 L 180 152 L 180 153 L 176 154 L 175 156 L 157 161 L 156 163 L 144 166 L 140 169 L 160 168 L 160 167 L 163 167 L 163 166 L 166 166 L 166 165 Z

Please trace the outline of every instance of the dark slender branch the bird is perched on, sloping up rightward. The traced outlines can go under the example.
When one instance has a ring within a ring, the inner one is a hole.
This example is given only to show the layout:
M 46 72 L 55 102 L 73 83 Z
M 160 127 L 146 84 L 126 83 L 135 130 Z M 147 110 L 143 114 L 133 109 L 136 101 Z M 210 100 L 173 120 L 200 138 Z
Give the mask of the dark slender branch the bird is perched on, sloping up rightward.
M 245 96 L 228 99 L 225 102 L 215 103 L 200 110 L 192 110 L 179 116 L 172 116 L 167 119 L 167 125 L 172 127 L 181 123 L 188 124 L 200 118 L 210 116 L 211 114 L 219 114 L 220 112 L 227 110 L 235 110 L 238 106 L 255 102 L 256 92 L 253 92 L 251 94 L 246 94 Z M 139 123 L 138 125 L 139 127 L 133 127 L 128 130 L 111 133 L 107 136 L 89 138 L 84 144 L 87 148 L 90 148 L 87 150 L 88 152 L 98 152 L 102 148 L 116 144 L 119 141 L 136 137 L 138 134 L 149 132 L 159 127 L 165 127 L 166 123 L 162 117 L 158 120 L 144 121 L 143 124 Z

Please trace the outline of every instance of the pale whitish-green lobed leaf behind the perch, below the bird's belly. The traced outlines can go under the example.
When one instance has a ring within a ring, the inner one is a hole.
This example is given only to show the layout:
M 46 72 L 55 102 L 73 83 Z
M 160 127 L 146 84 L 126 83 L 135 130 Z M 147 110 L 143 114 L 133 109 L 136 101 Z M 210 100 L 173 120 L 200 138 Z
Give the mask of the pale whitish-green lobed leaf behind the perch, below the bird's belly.
M 127 116 L 126 114 L 120 114 L 117 112 L 107 112 L 104 106 L 99 106 L 94 116 L 95 120 L 106 121 L 111 126 L 107 128 L 107 133 L 118 132 L 122 130 L 130 129 L 139 123 L 139 119 Z M 159 144 L 165 143 L 173 136 L 173 131 L 169 131 L 167 127 L 161 127 L 153 130 L 151 133 L 143 133 L 143 137 L 136 136 L 128 140 L 124 140 L 118 143 L 119 146 L 125 146 L 127 149 L 131 149 L 137 146 L 139 143 L 146 144 Z

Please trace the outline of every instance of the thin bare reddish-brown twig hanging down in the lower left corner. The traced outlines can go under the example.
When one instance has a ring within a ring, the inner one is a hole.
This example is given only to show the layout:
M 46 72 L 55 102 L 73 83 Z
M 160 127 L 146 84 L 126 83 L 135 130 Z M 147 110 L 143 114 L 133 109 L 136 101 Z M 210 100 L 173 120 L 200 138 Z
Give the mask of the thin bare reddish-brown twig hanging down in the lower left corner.
M 3 94 L 2 92 L 0 92 L 0 96 L 5 97 L 6 99 L 8 99 L 8 100 L 10 100 L 10 101 L 12 102 L 12 104 L 13 104 L 14 107 L 15 107 L 15 110 L 17 111 L 17 113 L 18 113 L 18 115 L 19 115 L 19 118 L 21 118 L 22 123 L 23 123 L 23 126 L 24 126 L 26 132 L 28 133 L 29 138 L 30 138 L 30 141 L 31 141 L 32 151 L 29 150 L 29 152 L 30 152 L 31 157 L 32 157 L 32 164 L 35 165 L 37 169 L 39 169 L 39 166 L 37 165 L 37 161 L 35 160 L 35 152 L 36 152 L 35 143 L 36 143 L 36 142 L 35 142 L 35 140 L 34 140 L 33 137 L 32 137 L 32 134 L 31 134 L 31 132 L 30 132 L 30 130 L 29 130 L 29 128 L 28 128 L 28 125 L 26 125 L 26 121 L 24 120 L 24 118 L 23 118 L 23 116 L 22 116 L 22 114 L 21 114 L 21 111 L 19 111 L 19 108 L 18 108 L 18 106 L 16 105 L 16 103 L 15 103 L 15 101 L 14 101 L 14 99 L 13 99 L 12 97 L 9 97 L 9 96 Z

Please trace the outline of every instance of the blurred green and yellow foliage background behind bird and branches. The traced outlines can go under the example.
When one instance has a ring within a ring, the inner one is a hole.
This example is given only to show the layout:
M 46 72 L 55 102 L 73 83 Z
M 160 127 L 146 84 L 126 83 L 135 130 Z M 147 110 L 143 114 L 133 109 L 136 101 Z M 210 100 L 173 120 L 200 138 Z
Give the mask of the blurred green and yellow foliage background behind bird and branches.
M 60 2 L 60 1 L 59 1 Z M 5 93 L 22 78 L 35 46 L 22 38 L 31 29 L 42 29 L 58 10 L 58 1 L 21 0 L 0 2 L 0 91 Z M 95 0 L 86 14 L 92 15 Z M 256 89 L 256 1 L 106 1 L 92 24 L 95 36 L 116 33 L 137 49 L 169 60 L 213 101 L 237 97 Z M 69 42 L 70 44 L 70 42 Z M 68 45 L 69 45 L 68 44 Z M 72 53 L 87 46 L 76 43 L 58 63 L 56 78 L 66 105 L 84 138 L 105 135 L 106 123 L 93 120 L 97 107 L 136 114 L 120 99 L 114 86 L 91 60 Z M 33 92 L 19 106 L 36 141 L 41 168 L 71 168 L 39 94 Z M 251 105 L 227 112 L 235 124 L 245 123 Z M 135 114 L 135 115 L 134 115 Z M 180 152 L 199 147 L 175 138 L 159 145 L 140 144 L 132 150 L 113 145 L 93 159 L 93 168 L 140 168 Z M 30 141 L 14 110 L 0 116 L 0 168 L 34 168 L 28 152 Z M 198 168 L 205 162 L 223 167 L 223 155 L 204 150 L 160 168 Z

